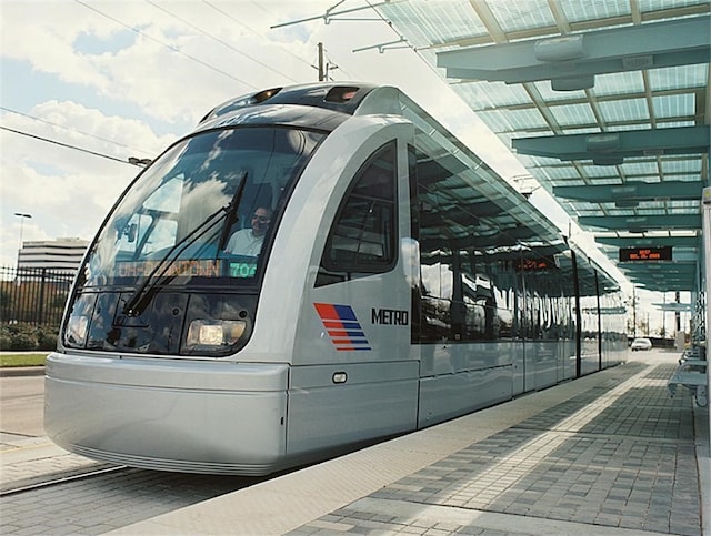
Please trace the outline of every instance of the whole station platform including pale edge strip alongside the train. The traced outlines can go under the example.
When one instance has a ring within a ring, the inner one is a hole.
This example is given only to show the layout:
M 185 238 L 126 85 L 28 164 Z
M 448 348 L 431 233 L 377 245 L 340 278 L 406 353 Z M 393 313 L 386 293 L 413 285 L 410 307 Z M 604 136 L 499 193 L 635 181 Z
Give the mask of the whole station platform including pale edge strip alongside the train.
M 673 352 L 111 534 L 711 534 L 709 413 Z

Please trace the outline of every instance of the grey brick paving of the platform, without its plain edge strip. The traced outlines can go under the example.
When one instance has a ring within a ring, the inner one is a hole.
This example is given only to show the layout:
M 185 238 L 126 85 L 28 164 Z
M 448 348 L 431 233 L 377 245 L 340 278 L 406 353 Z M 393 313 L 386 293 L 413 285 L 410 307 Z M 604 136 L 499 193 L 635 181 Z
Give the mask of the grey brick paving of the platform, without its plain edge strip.
M 667 393 L 674 367 L 620 366 L 607 382 L 290 534 L 699 535 L 694 408 L 691 397 Z

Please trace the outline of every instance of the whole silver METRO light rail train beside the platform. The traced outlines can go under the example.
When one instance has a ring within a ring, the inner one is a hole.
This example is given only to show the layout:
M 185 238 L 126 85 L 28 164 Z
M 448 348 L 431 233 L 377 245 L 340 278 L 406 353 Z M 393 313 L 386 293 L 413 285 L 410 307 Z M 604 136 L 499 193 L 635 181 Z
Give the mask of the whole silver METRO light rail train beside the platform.
M 262 475 L 620 363 L 614 281 L 402 92 L 276 88 L 129 185 L 47 360 L 68 451 Z

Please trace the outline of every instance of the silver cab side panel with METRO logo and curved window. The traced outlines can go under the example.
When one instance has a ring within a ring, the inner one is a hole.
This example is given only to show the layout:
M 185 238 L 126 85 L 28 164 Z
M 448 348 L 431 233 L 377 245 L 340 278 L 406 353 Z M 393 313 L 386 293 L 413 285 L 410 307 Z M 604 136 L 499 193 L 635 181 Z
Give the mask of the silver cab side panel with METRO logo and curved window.
M 354 151 L 323 214 L 289 390 L 290 455 L 413 429 L 407 135 Z

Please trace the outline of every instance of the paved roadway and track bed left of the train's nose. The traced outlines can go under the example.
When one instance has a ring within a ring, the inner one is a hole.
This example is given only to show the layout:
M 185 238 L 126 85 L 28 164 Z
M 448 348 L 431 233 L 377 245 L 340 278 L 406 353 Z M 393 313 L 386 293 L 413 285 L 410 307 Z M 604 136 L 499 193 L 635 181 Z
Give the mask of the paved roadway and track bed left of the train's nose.
M 98 464 L 44 437 L 43 404 L 43 375 L 0 376 L 0 475 L 8 489 L 92 471 Z M 0 534 L 106 534 L 267 478 L 128 468 L 67 481 L 3 496 Z

